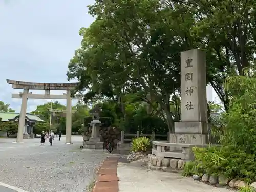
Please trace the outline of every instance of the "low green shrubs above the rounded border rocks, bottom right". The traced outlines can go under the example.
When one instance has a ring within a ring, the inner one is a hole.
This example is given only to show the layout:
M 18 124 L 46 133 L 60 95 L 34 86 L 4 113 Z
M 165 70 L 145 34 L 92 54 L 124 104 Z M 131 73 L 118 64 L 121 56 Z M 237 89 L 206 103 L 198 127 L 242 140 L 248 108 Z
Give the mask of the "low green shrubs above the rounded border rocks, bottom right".
M 239 148 L 233 146 L 195 147 L 193 152 L 196 166 L 202 167 L 204 173 L 238 178 L 247 183 L 253 182 L 256 177 L 255 155 L 247 154 Z

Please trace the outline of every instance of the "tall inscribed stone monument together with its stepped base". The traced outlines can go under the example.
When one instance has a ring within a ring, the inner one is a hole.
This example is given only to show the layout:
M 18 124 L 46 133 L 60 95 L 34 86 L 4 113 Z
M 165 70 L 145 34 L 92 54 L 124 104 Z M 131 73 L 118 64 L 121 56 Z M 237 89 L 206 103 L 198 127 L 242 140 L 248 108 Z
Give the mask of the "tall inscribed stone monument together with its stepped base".
M 209 143 L 207 119 L 205 53 L 181 52 L 181 122 L 175 122 L 170 143 Z

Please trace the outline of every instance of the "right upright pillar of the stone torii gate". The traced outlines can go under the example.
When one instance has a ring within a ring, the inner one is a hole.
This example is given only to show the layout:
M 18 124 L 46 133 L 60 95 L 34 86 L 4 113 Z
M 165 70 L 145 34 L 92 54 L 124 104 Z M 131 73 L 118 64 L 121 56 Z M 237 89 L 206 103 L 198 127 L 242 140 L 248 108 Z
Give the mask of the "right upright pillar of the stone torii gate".
M 72 105 L 71 105 L 71 91 L 67 90 L 67 109 L 66 109 L 66 143 L 71 142 L 71 126 L 72 126 Z

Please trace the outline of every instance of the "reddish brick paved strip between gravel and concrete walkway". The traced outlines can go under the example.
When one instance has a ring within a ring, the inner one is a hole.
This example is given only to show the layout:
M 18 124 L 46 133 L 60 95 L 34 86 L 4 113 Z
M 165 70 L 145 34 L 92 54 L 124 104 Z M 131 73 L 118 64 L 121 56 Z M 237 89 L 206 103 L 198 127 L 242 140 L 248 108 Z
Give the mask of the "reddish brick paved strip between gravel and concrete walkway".
M 120 157 L 109 157 L 99 169 L 93 192 L 118 192 L 117 164 Z

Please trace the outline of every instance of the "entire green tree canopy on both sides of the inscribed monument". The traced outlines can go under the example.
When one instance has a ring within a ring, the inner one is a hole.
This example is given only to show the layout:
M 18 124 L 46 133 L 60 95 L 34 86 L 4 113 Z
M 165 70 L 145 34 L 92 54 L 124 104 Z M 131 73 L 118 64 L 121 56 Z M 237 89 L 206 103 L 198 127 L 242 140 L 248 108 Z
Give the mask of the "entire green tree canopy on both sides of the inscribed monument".
M 206 53 L 207 83 L 224 109 L 226 77 L 254 65 L 253 1 L 99 1 L 89 6 L 95 21 L 81 28 L 81 47 L 69 63 L 85 102 L 112 100 L 124 108 L 127 94 L 147 103 L 174 131 L 180 118 L 180 52 Z

